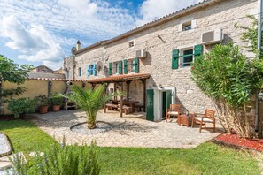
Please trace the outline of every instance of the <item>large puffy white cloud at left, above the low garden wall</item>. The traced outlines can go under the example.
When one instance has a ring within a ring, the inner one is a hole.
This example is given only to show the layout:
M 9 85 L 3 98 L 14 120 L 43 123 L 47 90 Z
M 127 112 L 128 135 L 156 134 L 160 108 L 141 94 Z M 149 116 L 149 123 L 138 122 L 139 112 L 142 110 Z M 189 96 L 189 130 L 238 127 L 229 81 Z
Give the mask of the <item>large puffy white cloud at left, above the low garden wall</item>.
M 14 16 L 9 16 L 2 19 L 1 26 L 4 37 L 9 39 L 5 45 L 19 50 L 20 59 L 51 63 L 58 62 L 65 56 L 60 44 L 55 42 L 54 37 L 41 25 L 25 27 Z

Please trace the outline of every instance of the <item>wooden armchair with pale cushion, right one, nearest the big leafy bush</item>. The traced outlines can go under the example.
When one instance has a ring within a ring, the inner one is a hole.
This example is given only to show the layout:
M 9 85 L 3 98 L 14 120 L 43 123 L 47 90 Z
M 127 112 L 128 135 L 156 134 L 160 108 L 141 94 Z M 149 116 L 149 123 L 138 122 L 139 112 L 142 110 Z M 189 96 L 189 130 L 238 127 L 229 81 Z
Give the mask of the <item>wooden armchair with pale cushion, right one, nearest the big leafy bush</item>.
M 194 113 L 193 119 L 192 119 L 192 127 L 197 122 L 200 124 L 199 132 L 201 133 L 202 129 L 213 129 L 213 132 L 215 132 L 215 118 L 214 118 L 215 111 L 214 110 L 205 110 L 205 114 L 197 114 Z M 210 123 L 213 125 L 213 127 L 206 127 L 206 123 Z M 205 126 L 205 127 L 203 127 Z

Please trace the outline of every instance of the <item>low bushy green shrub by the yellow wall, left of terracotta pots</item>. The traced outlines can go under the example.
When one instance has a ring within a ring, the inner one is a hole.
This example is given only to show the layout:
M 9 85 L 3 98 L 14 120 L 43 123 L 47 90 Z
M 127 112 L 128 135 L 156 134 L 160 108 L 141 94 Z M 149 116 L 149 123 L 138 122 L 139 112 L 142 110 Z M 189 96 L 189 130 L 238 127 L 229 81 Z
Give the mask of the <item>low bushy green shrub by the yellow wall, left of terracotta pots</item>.
M 8 100 L 7 109 L 12 111 L 15 118 L 19 118 L 20 115 L 34 113 L 35 112 L 35 99 L 19 98 Z

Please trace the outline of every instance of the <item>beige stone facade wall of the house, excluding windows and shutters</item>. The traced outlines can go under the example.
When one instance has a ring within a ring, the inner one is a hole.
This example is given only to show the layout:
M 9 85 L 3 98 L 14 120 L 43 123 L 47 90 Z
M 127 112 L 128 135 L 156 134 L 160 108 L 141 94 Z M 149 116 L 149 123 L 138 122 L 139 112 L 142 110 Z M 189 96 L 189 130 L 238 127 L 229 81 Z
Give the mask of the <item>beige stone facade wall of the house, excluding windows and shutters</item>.
M 189 112 L 204 112 L 205 109 L 213 109 L 213 103 L 195 82 L 191 80 L 190 66 L 182 67 L 180 59 L 179 69 L 172 69 L 172 51 L 179 49 L 181 54 L 184 49 L 192 49 L 201 44 L 201 34 L 221 28 L 224 34 L 223 43 L 233 41 L 241 46 L 247 45 L 241 41 L 241 29 L 234 25 L 249 25 L 250 19 L 246 15 L 257 13 L 256 0 L 213 0 L 213 3 L 205 3 L 199 8 L 185 11 L 174 18 L 165 17 L 163 22 L 156 25 L 146 24 L 146 28 L 137 32 L 129 32 L 118 39 L 119 36 L 102 42 L 97 47 L 86 49 L 75 57 L 76 68 L 82 69 L 82 75 L 75 76 L 76 80 L 91 80 L 108 76 L 102 70 L 97 76 L 87 76 L 87 65 L 101 61 L 108 68 L 110 62 L 135 57 L 135 50 L 145 49 L 147 57 L 140 58 L 139 72 L 150 73 L 151 78 L 146 80 L 147 89 L 153 87 L 175 87 L 175 103 L 181 103 L 183 109 Z M 192 29 L 182 31 L 182 24 L 191 21 Z M 147 25 L 149 27 L 147 27 Z M 120 35 L 121 36 L 121 35 Z M 134 41 L 134 47 L 129 48 L 128 42 Z M 204 45 L 204 52 L 213 48 L 213 45 Z M 249 53 L 244 49 L 244 53 Z M 66 58 L 65 67 L 72 69 L 72 59 Z M 106 69 L 105 68 L 105 69 Z M 124 88 L 126 89 L 126 88 Z M 132 81 L 130 85 L 130 97 L 132 100 L 143 101 L 143 83 L 140 80 Z

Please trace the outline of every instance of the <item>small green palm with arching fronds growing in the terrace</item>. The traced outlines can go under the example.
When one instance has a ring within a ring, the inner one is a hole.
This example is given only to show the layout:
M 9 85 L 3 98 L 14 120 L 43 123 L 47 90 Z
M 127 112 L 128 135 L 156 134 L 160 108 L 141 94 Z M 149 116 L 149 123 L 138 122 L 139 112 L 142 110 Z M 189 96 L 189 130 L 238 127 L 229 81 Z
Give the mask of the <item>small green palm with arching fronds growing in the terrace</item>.
M 96 89 L 92 89 L 91 87 L 84 89 L 74 85 L 71 89 L 73 93 L 66 95 L 66 98 L 76 103 L 86 112 L 89 129 L 96 128 L 98 110 L 101 110 L 108 100 L 117 95 L 116 93 L 110 95 L 105 94 L 105 85 L 97 87 Z

